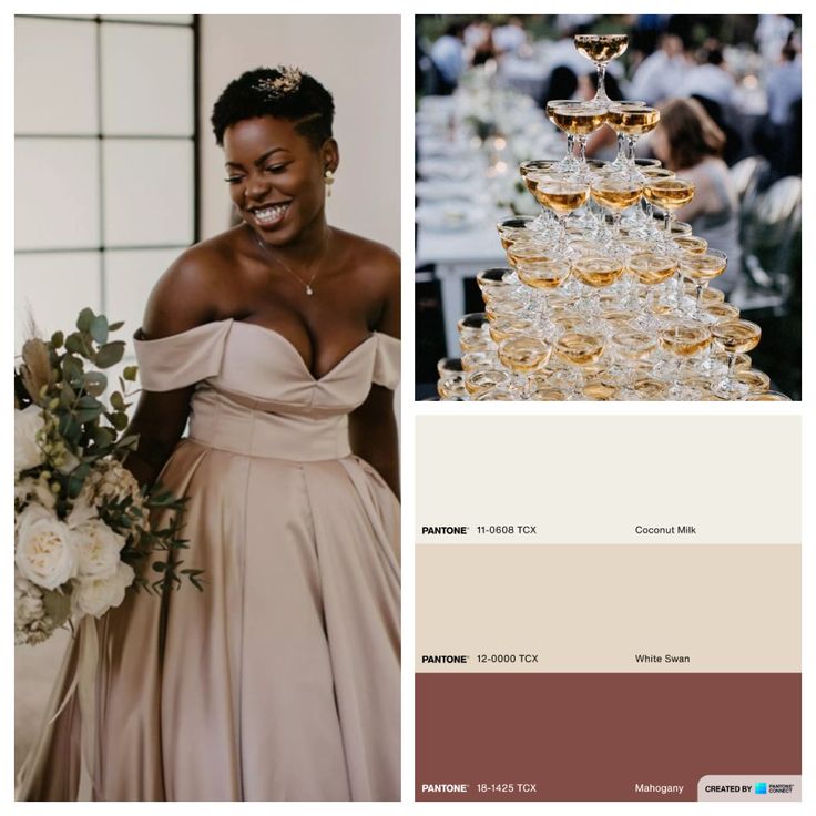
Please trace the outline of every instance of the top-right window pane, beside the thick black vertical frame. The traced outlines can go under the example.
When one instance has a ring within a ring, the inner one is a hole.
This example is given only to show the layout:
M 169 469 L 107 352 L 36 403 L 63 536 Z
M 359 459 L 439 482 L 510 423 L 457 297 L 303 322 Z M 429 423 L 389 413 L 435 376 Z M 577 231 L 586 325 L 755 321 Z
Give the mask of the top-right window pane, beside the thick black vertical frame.
M 150 59 L 145 59 L 145 55 Z M 193 133 L 193 32 L 102 27 L 102 122 L 106 135 Z

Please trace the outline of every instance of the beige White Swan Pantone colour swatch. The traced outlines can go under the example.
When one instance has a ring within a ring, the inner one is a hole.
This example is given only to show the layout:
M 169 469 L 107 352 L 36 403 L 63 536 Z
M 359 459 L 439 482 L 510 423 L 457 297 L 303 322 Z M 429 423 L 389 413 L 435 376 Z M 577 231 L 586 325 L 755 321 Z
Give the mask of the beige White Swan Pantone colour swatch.
M 416 581 L 420 672 L 800 671 L 796 545 L 420 545 Z

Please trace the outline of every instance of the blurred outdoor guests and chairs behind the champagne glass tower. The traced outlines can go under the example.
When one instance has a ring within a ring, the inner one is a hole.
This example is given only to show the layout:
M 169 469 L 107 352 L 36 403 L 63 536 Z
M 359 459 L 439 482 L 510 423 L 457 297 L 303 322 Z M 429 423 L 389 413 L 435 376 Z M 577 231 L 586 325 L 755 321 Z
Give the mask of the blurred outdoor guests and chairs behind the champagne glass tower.
M 574 48 L 581 33 L 626 33 L 605 86 L 612 100 L 661 111 L 638 144 L 694 181 L 677 216 L 730 258 L 721 286 L 743 309 L 766 315 L 765 350 L 788 392 L 799 388 L 802 19 L 797 16 L 559 14 L 417 18 L 417 93 L 456 92 L 484 71 L 497 86 L 531 96 L 590 100 L 595 67 Z M 611 160 L 602 128 L 586 154 Z M 549 156 L 529 156 L 543 159 Z M 778 322 L 778 330 L 774 322 Z M 796 397 L 795 397 L 796 398 Z

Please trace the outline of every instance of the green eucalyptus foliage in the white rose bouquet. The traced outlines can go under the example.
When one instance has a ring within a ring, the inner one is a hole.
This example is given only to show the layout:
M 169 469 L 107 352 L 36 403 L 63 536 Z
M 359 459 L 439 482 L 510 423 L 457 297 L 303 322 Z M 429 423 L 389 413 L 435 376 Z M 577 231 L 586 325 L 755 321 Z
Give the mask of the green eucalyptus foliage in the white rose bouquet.
M 104 315 L 84 308 L 75 325 L 75 332 L 55 332 L 49 341 L 32 344 L 28 357 L 23 349 L 22 365 L 14 373 L 16 407 L 35 402 L 44 419 L 38 443 L 45 461 L 21 476 L 48 481 L 55 497 L 54 511 L 63 520 L 89 476 L 106 469 L 104 460 L 124 462 L 139 446 L 139 437 L 125 432 L 133 396 L 128 385 L 136 380 L 136 366 L 124 368 L 120 390 L 110 392 L 108 401 L 109 377 L 100 370 L 122 360 L 125 344 L 110 336 L 124 324 L 109 323 Z M 136 590 L 161 592 L 184 581 L 203 589 L 201 570 L 178 570 L 183 562 L 177 553 L 187 547 L 181 538 L 185 502 L 156 483 L 141 496 L 125 494 L 98 508 L 100 519 L 125 538 L 121 558 L 136 571 Z M 149 513 L 153 523 L 147 522 Z M 161 573 L 159 581 L 145 578 L 149 569 Z M 49 616 L 62 625 L 70 618 L 70 593 L 51 590 L 43 596 Z

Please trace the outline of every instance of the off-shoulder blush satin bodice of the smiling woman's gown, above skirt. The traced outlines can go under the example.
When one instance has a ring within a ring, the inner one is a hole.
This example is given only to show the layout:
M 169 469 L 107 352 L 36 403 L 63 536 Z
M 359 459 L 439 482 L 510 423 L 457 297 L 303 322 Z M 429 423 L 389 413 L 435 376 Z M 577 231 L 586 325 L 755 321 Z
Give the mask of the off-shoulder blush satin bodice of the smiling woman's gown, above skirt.
M 346 416 L 371 384 L 399 381 L 399 340 L 375 332 L 314 377 L 279 333 L 232 318 L 135 340 L 142 386 L 195 385 L 190 437 L 247 456 L 313 461 L 348 456 Z

